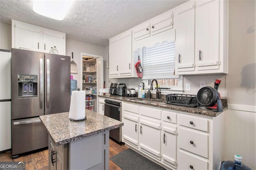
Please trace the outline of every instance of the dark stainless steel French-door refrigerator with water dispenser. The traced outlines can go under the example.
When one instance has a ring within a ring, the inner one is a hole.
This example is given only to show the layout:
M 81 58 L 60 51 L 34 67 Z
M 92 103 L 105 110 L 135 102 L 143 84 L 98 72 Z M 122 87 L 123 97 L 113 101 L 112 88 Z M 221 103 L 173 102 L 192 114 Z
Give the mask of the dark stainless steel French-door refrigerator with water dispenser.
M 12 158 L 48 147 L 40 115 L 69 111 L 70 57 L 12 49 Z

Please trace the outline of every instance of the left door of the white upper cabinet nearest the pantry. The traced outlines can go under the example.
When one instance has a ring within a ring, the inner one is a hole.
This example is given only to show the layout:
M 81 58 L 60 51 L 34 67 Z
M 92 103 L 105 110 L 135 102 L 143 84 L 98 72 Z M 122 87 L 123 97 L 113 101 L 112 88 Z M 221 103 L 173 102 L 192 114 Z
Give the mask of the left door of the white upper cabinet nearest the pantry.
M 109 40 L 109 77 L 118 76 L 119 38 Z

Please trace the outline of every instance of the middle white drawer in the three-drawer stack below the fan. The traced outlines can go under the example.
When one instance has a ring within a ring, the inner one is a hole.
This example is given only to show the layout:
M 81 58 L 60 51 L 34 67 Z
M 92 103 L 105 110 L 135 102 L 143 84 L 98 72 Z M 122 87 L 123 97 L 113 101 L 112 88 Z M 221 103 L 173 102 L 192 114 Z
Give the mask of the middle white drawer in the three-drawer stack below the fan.
M 185 129 L 179 129 L 178 135 L 180 149 L 208 158 L 208 135 Z

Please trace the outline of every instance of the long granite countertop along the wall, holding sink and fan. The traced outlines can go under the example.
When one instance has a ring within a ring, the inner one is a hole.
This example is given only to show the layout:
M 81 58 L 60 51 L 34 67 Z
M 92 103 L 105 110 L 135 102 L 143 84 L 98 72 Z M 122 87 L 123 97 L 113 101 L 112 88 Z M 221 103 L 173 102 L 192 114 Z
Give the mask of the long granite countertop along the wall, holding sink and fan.
M 150 103 L 142 103 L 142 102 L 138 102 L 138 101 L 131 101 L 132 99 L 135 99 L 137 97 L 124 97 L 124 96 L 118 96 L 118 95 L 110 95 L 110 96 L 103 95 L 103 96 L 99 96 L 99 97 L 120 100 L 120 101 L 124 101 L 124 102 L 131 102 L 131 103 L 136 103 L 136 104 L 142 104 L 142 105 L 146 105 L 146 106 L 154 106 L 154 107 L 160 107 L 160 108 L 165 108 L 165 109 L 184 111 L 184 112 L 188 112 L 188 113 L 206 115 L 206 116 L 210 116 L 210 117 L 216 117 L 220 113 L 222 113 L 222 112 L 216 112 L 216 111 L 209 110 L 209 109 L 201 109 L 201 108 L 197 108 L 197 107 L 178 106 L 178 105 L 173 105 L 173 104 L 150 104 Z M 160 97 L 160 98 L 164 102 L 164 95 L 162 95 L 162 97 Z M 223 111 L 227 109 L 227 100 L 226 99 L 222 99 L 222 107 L 223 107 Z

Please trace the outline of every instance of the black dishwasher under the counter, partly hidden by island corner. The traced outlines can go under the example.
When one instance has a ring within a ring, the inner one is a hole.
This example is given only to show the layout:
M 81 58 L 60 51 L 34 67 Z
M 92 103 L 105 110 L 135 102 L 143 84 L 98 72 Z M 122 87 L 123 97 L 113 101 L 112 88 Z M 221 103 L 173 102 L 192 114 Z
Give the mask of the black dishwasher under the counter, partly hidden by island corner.
M 117 102 L 114 100 L 105 100 L 104 104 L 104 115 L 116 119 L 118 121 L 122 121 L 122 111 L 121 111 L 121 102 Z M 121 128 L 118 127 L 116 129 L 112 129 L 109 131 L 109 137 L 116 140 L 117 142 L 122 141 L 122 131 Z

